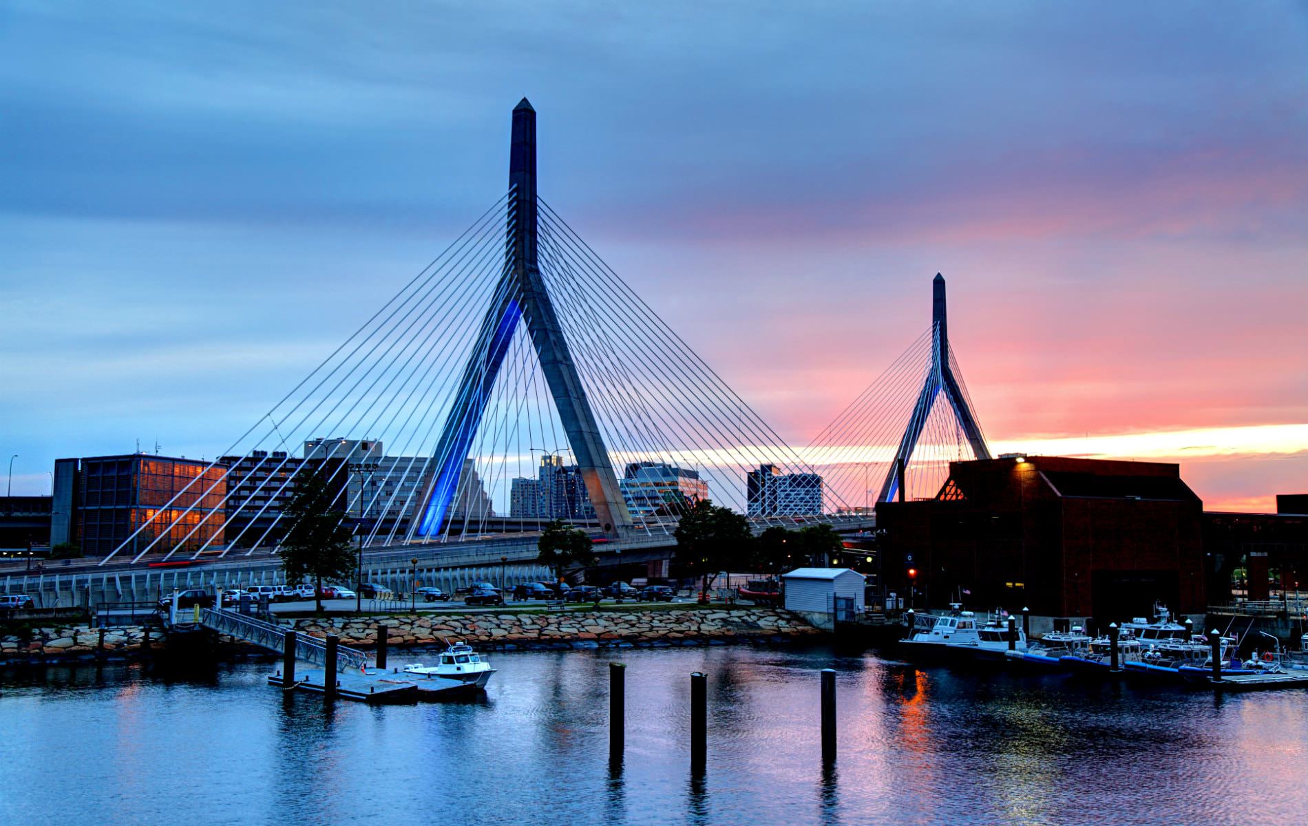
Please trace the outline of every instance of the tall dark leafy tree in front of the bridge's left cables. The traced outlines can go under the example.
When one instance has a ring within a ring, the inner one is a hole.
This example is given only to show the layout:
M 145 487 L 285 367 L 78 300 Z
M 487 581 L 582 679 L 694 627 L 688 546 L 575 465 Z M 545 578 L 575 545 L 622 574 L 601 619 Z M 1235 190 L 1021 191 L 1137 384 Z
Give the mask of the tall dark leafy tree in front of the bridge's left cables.
M 323 580 L 344 579 L 354 571 L 353 529 L 344 511 L 336 510 L 336 497 L 319 473 L 303 477 L 283 515 L 290 529 L 281 540 L 281 567 L 288 582 L 305 576 L 314 580 L 317 610 L 323 610 Z

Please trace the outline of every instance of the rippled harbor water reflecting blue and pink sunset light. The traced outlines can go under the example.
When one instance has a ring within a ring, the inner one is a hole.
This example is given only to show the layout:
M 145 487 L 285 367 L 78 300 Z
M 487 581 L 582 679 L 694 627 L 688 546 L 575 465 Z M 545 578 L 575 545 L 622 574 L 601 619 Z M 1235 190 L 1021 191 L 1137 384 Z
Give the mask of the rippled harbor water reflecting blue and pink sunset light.
M 405 655 L 400 655 L 403 659 Z M 608 762 L 607 664 L 628 664 Z M 484 701 L 326 710 L 269 664 L 0 674 L 0 823 L 1303 823 L 1308 693 L 746 646 L 523 652 Z M 840 669 L 820 759 L 816 669 Z M 709 761 L 689 772 L 693 670 Z

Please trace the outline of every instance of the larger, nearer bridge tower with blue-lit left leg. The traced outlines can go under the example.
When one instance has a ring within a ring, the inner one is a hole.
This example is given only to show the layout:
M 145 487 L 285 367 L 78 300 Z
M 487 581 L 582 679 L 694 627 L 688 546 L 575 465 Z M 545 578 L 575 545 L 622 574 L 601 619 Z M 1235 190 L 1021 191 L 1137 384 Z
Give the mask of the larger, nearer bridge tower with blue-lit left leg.
M 436 468 L 417 501 L 411 536 L 436 536 L 458 489 L 496 376 L 519 322 L 526 322 L 540 371 L 577 459 L 595 518 L 606 535 L 632 524 L 603 435 L 536 263 L 536 110 L 523 98 L 513 110 L 509 148 L 509 221 L 504 274 L 463 370 L 454 405 L 433 455 Z

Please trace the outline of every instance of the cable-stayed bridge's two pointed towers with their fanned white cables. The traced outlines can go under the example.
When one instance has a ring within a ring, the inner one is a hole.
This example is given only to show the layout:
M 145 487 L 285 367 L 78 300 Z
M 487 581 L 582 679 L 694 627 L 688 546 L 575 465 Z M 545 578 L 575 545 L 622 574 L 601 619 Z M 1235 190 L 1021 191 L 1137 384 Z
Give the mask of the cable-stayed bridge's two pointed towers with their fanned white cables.
M 916 403 L 892 422 L 886 395 L 914 371 Z M 850 480 L 883 426 L 903 435 L 880 499 L 942 461 L 938 399 L 985 455 L 960 376 L 938 277 L 931 331 L 808 448 L 789 447 L 539 196 L 523 99 L 508 192 L 99 565 L 254 562 L 310 474 L 378 561 L 523 561 L 552 519 L 624 561 L 667 558 L 704 498 L 756 531 L 863 531 L 869 493 Z

